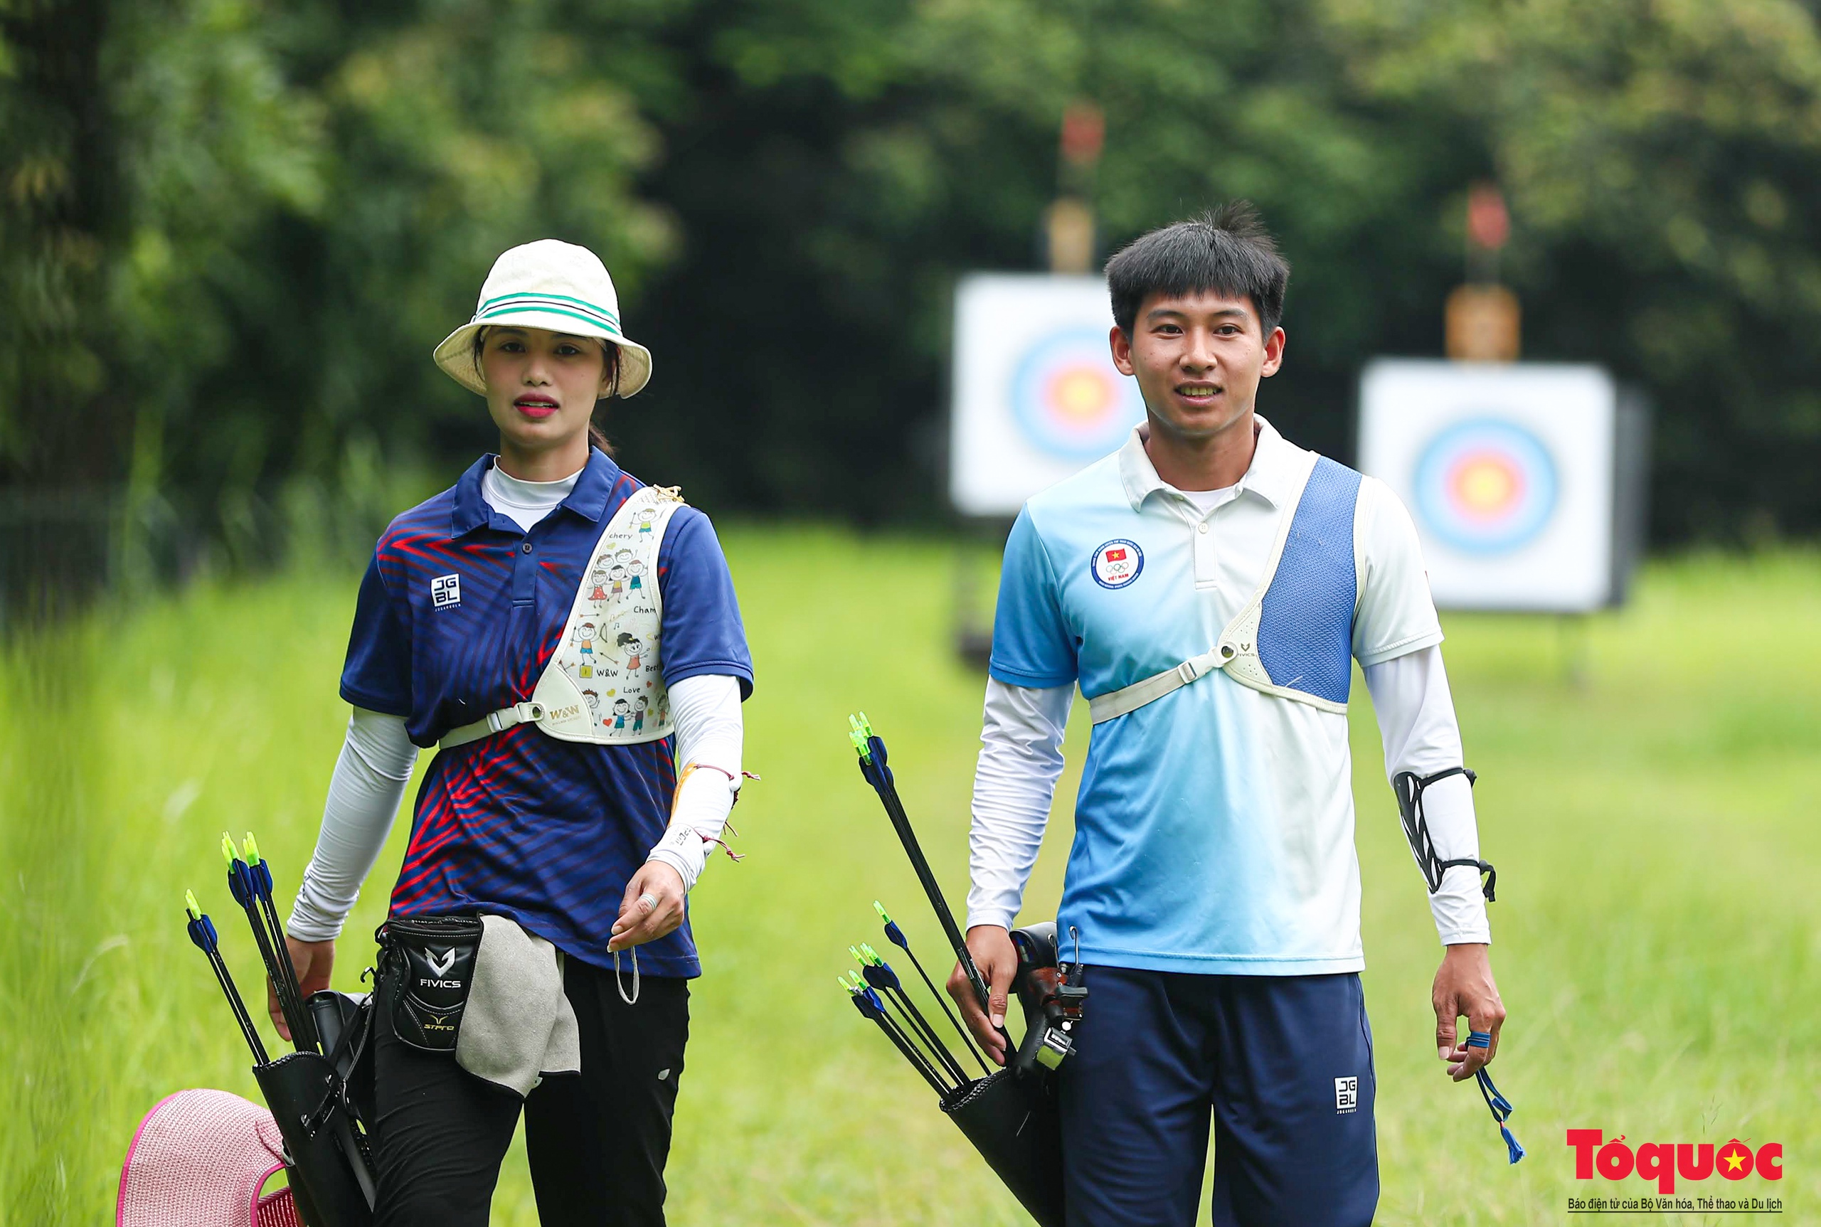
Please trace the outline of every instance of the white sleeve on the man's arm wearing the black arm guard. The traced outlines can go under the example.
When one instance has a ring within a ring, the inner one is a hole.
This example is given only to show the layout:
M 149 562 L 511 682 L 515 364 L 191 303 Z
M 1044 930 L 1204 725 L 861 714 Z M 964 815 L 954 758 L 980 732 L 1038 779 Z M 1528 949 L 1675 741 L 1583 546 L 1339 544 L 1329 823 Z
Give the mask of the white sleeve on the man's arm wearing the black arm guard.
M 1399 772 L 1433 776 L 1462 766 L 1460 725 L 1448 692 L 1448 670 L 1440 646 L 1399 655 L 1366 670 L 1366 688 L 1378 712 L 1378 737 L 1384 743 L 1386 779 Z M 1473 786 L 1466 776 L 1439 779 L 1422 794 L 1422 812 L 1429 823 L 1435 852 L 1451 861 L 1479 859 L 1479 823 L 1473 817 Z M 1435 932 L 1442 945 L 1491 941 L 1486 897 L 1479 872 L 1459 865 L 1442 874 L 1442 888 L 1429 896 Z

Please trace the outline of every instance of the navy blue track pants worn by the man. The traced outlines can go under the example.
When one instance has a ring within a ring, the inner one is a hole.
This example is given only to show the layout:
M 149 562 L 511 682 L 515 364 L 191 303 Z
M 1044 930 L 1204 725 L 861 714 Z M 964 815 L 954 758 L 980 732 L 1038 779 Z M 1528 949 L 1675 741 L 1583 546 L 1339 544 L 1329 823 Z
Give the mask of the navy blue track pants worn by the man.
M 1195 1227 L 1209 1112 L 1216 1227 L 1364 1227 L 1375 1090 L 1357 974 L 1091 967 L 1062 1067 L 1069 1227 Z

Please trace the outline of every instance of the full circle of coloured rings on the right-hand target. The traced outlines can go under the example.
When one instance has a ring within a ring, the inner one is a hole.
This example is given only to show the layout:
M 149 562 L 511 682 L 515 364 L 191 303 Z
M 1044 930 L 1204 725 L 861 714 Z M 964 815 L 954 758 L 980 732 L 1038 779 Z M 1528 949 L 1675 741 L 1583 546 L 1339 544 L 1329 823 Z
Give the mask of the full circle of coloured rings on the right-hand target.
M 1466 553 L 1510 553 L 1535 541 L 1555 515 L 1559 490 L 1550 450 L 1502 419 L 1457 422 L 1417 459 L 1417 513 Z

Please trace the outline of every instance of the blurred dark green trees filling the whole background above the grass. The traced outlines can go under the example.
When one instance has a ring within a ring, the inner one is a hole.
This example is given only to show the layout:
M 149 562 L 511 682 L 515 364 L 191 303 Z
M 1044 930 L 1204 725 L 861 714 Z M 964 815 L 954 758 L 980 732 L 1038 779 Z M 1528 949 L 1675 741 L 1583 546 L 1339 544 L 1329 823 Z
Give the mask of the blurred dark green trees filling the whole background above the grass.
M 229 557 L 361 512 L 486 446 L 428 350 L 557 235 L 657 355 L 650 477 L 936 517 L 954 279 L 1038 264 L 1093 98 L 1104 249 L 1280 233 L 1295 437 L 1349 455 L 1358 364 L 1440 350 L 1493 177 L 1526 355 L 1659 408 L 1655 541 L 1812 533 L 1817 84 L 1808 0 L 4 0 L 0 477 Z

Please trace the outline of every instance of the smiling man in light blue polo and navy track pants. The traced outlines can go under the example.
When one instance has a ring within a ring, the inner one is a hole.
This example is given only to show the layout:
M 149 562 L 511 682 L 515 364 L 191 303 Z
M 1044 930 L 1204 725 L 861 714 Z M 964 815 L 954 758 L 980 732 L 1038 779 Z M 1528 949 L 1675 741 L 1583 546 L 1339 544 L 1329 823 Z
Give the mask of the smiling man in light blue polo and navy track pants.
M 1437 1056 L 1462 1081 L 1497 1052 L 1490 867 L 1415 528 L 1384 484 L 1255 413 L 1287 280 L 1246 204 L 1113 257 L 1113 362 L 1145 422 L 1033 497 L 1005 543 L 967 897 L 989 1010 L 960 972 L 949 990 L 1003 1061 L 1007 930 L 1078 684 L 1093 739 L 1058 918 L 1089 990 L 1060 1069 L 1076 1227 L 1193 1227 L 1209 1116 L 1215 1223 L 1373 1218 L 1353 661 L 1446 948 Z M 1460 1016 L 1488 1047 L 1457 1041 Z

